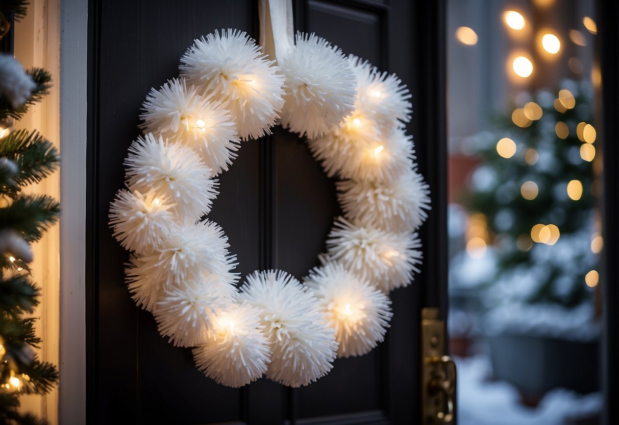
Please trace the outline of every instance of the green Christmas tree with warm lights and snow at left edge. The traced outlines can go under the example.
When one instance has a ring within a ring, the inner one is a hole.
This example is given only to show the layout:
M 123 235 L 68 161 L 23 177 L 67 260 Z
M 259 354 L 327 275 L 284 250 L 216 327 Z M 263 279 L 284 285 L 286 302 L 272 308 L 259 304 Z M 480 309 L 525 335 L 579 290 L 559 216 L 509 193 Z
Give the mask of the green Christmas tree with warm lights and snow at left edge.
M 25 15 L 25 2 L 0 5 L 1 27 Z M 58 167 L 58 151 L 37 131 L 13 131 L 28 108 L 48 94 L 44 69 L 24 71 L 12 55 L 0 54 L 0 423 L 45 423 L 20 413 L 19 396 L 44 394 L 58 381 L 56 366 L 40 361 L 35 349 L 39 289 L 32 281 L 30 243 L 58 220 L 59 204 L 46 195 L 24 193 Z

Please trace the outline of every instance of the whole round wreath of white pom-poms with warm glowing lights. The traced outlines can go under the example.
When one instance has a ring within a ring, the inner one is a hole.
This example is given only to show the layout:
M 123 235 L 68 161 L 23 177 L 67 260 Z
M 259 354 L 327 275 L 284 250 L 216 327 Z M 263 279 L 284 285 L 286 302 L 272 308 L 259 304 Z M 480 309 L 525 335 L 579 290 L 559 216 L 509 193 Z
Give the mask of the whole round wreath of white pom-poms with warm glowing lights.
M 389 291 L 410 284 L 422 258 L 415 230 L 430 198 L 404 131 L 409 91 L 314 34 L 296 40 L 277 64 L 245 32 L 195 40 L 180 77 L 147 95 L 144 136 L 129 147 L 126 188 L 110 206 L 113 234 L 132 251 L 132 298 L 162 336 L 193 347 L 199 370 L 230 387 L 263 375 L 300 387 L 336 357 L 368 353 L 389 327 Z M 344 217 L 303 283 L 269 270 L 238 287 L 236 256 L 207 218 L 214 177 L 278 120 L 307 136 L 327 175 L 342 180 Z

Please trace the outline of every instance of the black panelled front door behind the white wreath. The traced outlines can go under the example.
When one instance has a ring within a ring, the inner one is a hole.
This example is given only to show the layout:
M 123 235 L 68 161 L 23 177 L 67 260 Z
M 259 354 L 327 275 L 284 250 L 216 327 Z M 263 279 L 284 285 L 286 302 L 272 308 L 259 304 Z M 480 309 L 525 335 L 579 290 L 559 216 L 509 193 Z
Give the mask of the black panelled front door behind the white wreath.
M 150 87 L 178 74 L 194 38 L 221 28 L 259 35 L 258 1 L 91 2 L 89 82 L 89 423 L 412 424 L 420 418 L 420 309 L 445 294 L 444 82 L 442 2 L 296 1 L 295 29 L 316 32 L 345 53 L 396 72 L 413 94 L 413 134 L 433 211 L 422 229 L 424 266 L 392 292 L 387 340 L 365 356 L 339 359 L 318 382 L 292 390 L 261 379 L 217 385 L 139 310 L 124 284 L 128 254 L 111 237 L 108 205 L 123 185 L 126 149 L 139 134 Z M 280 128 L 244 142 L 210 219 L 238 255 L 243 277 L 281 268 L 297 278 L 316 265 L 333 217 L 334 181 L 305 142 Z

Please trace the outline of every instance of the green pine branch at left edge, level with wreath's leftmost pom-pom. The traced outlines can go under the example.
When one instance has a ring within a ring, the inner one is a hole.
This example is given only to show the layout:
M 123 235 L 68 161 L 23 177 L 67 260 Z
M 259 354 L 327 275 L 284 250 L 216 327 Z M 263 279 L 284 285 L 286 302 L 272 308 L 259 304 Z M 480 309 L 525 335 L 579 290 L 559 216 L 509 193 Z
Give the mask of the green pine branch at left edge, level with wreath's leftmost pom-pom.
M 0 223 L 14 229 L 28 242 L 34 242 L 58 221 L 60 204 L 47 195 L 22 195 L 10 206 L 0 208 Z

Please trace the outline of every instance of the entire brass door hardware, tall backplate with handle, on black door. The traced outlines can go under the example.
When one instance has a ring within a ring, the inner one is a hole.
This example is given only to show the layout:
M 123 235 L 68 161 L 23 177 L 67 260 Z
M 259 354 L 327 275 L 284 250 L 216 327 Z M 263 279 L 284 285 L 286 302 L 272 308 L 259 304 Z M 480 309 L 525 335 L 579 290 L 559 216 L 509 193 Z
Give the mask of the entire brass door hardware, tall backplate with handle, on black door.
M 456 364 L 445 354 L 445 322 L 438 309 L 422 310 L 423 425 L 455 425 Z

